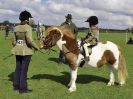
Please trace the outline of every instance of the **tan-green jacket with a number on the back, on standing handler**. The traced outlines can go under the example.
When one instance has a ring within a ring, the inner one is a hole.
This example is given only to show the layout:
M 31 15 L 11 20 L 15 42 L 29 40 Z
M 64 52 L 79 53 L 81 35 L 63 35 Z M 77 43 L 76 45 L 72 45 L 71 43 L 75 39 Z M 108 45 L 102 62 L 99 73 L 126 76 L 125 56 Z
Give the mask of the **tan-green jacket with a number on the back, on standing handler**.
M 11 53 L 14 55 L 32 55 L 33 48 L 39 49 L 33 41 L 32 28 L 28 24 L 16 26 L 12 44 L 14 47 Z

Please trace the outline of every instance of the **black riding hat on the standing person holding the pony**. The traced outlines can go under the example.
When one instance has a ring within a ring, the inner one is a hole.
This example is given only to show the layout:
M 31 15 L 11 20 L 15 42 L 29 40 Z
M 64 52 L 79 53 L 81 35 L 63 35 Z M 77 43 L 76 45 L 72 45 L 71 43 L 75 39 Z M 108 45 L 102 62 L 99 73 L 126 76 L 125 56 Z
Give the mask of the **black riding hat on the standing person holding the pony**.
M 33 18 L 32 15 L 30 14 L 30 12 L 28 11 L 22 11 L 19 15 L 19 19 L 21 21 L 25 21 L 25 20 L 29 20 L 29 18 Z

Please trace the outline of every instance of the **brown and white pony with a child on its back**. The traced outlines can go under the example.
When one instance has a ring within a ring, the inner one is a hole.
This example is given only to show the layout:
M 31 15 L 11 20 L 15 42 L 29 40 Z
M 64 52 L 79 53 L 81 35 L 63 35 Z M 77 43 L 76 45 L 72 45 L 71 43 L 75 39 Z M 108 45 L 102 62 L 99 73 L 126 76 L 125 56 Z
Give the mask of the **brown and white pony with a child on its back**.
M 75 81 L 77 79 L 78 65 L 84 58 L 84 56 L 80 53 L 77 40 L 69 29 L 66 29 L 65 27 L 50 27 L 47 29 L 46 33 L 46 38 L 40 42 L 40 47 L 47 49 L 57 45 L 60 50 L 64 51 L 65 57 L 71 69 L 71 80 L 68 84 L 70 87 L 69 91 L 76 91 Z M 113 69 L 118 72 L 120 85 L 125 84 L 127 76 L 125 59 L 120 48 L 116 44 L 110 41 L 99 42 L 92 48 L 92 53 L 89 57 L 90 60 L 86 61 L 89 66 L 101 67 L 105 64 L 108 65 L 110 70 L 108 86 L 114 85 L 115 82 Z

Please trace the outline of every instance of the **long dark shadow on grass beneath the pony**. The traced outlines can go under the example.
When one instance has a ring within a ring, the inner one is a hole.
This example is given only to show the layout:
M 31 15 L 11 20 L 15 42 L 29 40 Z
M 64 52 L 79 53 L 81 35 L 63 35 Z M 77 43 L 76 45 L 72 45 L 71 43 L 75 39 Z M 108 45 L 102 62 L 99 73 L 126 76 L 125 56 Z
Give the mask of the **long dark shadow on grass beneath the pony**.
M 57 76 L 57 75 L 52 75 L 52 74 L 37 74 L 37 75 L 33 75 L 30 79 L 49 79 L 52 81 L 55 81 L 57 83 L 60 83 L 62 85 L 67 85 L 70 81 L 70 75 L 67 72 L 61 72 L 63 75 Z M 96 75 L 86 75 L 86 74 L 82 74 L 82 75 L 78 75 L 77 76 L 77 81 L 76 83 L 80 83 L 80 84 L 87 84 L 87 83 L 91 83 L 93 81 L 97 81 L 97 82 L 103 82 L 103 83 L 107 83 L 109 79 L 106 79 L 104 77 L 99 77 Z

